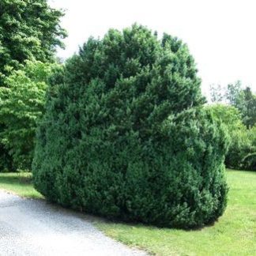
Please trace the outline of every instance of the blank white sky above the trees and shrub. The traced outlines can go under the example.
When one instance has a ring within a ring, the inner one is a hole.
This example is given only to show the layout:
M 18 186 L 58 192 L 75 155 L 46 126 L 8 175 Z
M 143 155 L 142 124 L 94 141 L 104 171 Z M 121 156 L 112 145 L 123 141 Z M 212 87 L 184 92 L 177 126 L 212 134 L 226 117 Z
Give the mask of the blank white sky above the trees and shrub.
M 109 28 L 126 28 L 134 22 L 159 35 L 167 32 L 187 43 L 198 64 L 202 89 L 241 80 L 256 91 L 255 0 L 49 0 L 66 9 L 62 26 L 69 37 L 67 58 L 89 36 L 102 37 Z

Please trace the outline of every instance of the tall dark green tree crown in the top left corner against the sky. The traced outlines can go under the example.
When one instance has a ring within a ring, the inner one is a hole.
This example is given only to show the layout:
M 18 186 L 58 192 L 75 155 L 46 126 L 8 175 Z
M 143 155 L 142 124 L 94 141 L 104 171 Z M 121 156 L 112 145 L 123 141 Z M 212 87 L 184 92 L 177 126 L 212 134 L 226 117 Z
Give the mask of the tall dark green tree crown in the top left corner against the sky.
M 33 58 L 53 61 L 55 47 L 63 47 L 61 39 L 66 36 L 59 25 L 62 16 L 47 0 L 1 0 L 0 74 L 8 74 L 8 66 L 19 69 Z

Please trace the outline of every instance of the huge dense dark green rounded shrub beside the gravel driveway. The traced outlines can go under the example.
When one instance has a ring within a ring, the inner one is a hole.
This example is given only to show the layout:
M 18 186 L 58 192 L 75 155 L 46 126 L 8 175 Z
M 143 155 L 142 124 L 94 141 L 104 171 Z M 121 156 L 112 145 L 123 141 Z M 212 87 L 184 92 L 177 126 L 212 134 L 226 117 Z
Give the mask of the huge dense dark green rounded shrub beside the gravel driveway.
M 226 137 L 201 107 L 186 44 L 137 24 L 112 29 L 51 81 L 33 162 L 48 200 L 178 228 L 224 212 Z

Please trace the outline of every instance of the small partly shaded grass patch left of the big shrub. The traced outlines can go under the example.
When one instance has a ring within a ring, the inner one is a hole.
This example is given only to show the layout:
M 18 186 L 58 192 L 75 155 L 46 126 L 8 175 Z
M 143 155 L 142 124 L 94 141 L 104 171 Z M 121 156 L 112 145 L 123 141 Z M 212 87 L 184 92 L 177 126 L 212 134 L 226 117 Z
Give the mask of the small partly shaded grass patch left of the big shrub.
M 32 186 L 32 174 L 30 172 L 0 172 L 0 189 L 13 192 L 24 198 L 43 198 L 43 195 Z

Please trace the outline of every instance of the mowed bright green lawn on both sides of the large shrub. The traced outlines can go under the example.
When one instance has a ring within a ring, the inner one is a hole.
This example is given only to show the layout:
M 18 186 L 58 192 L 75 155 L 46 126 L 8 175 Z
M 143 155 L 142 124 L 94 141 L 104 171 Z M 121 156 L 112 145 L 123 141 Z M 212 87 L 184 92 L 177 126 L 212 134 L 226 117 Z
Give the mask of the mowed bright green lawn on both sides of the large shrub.
M 156 255 L 256 255 L 256 172 L 227 171 L 228 208 L 211 227 L 183 231 L 97 220 L 105 234 Z M 0 189 L 42 198 L 28 173 L 0 173 Z

